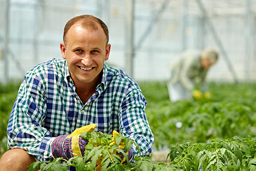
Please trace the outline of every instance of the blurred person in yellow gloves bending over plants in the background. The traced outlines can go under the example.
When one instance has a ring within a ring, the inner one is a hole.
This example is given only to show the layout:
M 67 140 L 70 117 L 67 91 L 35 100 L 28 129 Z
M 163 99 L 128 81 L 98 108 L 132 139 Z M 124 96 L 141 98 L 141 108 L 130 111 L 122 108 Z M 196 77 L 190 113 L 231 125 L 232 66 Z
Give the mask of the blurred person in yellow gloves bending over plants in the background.
M 170 101 L 210 97 L 210 93 L 205 86 L 205 77 L 208 69 L 218 60 L 218 53 L 211 48 L 206 48 L 202 52 L 196 50 L 185 51 L 169 66 L 171 71 L 170 80 L 167 83 Z M 200 90 L 196 89 L 197 78 L 200 80 Z

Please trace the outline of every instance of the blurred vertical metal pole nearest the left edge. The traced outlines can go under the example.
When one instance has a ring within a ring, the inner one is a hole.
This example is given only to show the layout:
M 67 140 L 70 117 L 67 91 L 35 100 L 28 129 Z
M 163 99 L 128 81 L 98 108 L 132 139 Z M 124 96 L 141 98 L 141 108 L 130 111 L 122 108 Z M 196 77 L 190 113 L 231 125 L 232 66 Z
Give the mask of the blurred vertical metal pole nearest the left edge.
M 4 66 L 4 84 L 9 82 L 9 62 L 8 62 L 8 52 L 9 52 L 9 11 L 10 11 L 10 0 L 6 0 L 6 20 L 5 20 L 5 39 L 4 39 L 4 51 L 3 56 L 5 60 Z

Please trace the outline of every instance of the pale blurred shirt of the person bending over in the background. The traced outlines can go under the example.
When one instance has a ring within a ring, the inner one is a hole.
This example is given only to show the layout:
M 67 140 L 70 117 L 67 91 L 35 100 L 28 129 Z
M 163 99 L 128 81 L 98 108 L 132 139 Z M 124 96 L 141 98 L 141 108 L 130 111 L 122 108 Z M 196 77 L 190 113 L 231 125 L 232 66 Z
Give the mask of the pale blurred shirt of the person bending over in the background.
M 201 90 L 206 89 L 205 77 L 208 69 L 203 69 L 200 51 L 187 50 L 175 61 L 170 63 L 170 82 L 174 85 L 178 81 L 187 91 L 195 89 L 196 78 L 200 79 Z

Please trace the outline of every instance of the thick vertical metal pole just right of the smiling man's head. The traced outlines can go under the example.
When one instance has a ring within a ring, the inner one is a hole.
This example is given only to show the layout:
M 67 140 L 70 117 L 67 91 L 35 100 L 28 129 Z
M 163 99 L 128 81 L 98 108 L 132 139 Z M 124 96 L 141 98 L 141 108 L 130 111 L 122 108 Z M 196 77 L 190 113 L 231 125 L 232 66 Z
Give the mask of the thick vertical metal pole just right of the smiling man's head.
M 134 1 L 125 0 L 125 24 L 126 24 L 126 73 L 133 77 L 134 66 Z

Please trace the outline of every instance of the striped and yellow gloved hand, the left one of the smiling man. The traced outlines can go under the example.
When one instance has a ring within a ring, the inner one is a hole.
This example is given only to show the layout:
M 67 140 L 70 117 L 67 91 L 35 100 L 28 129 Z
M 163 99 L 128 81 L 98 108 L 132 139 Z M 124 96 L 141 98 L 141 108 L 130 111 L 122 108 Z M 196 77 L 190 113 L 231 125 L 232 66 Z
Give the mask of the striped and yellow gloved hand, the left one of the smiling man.
M 75 156 L 84 156 L 88 140 L 79 137 L 81 133 L 94 131 L 96 124 L 90 124 L 76 129 L 70 135 L 60 135 L 51 144 L 54 158 L 63 157 L 69 160 Z

